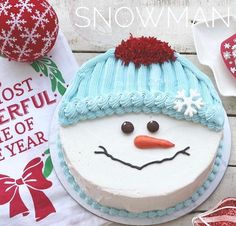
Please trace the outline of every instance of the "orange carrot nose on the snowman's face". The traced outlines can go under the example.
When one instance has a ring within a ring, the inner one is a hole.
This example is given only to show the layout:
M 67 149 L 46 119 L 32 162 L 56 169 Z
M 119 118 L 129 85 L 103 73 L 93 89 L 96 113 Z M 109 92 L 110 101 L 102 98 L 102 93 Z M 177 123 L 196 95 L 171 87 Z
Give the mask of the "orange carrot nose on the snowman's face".
M 168 140 L 157 139 L 155 137 L 149 136 L 137 136 L 134 139 L 134 144 L 137 148 L 147 149 L 147 148 L 171 148 L 175 144 Z

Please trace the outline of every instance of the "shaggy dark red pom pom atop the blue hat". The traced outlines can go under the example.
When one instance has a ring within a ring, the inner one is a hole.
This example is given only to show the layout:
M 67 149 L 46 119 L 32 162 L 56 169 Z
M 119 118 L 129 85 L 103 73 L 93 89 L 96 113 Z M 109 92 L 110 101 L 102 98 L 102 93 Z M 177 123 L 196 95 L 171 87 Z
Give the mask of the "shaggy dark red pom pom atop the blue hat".
M 133 62 L 137 67 L 141 64 L 150 65 L 176 59 L 174 50 L 168 43 L 154 37 L 134 38 L 132 35 L 116 47 L 115 56 L 125 65 Z

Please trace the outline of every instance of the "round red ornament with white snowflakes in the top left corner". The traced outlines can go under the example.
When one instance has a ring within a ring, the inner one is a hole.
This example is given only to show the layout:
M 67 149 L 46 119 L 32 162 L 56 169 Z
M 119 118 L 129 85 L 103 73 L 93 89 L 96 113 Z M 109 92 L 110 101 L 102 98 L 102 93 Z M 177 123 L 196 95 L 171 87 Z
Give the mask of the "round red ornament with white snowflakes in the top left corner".
M 46 0 L 0 0 L 0 54 L 20 62 L 45 56 L 58 35 L 58 18 Z

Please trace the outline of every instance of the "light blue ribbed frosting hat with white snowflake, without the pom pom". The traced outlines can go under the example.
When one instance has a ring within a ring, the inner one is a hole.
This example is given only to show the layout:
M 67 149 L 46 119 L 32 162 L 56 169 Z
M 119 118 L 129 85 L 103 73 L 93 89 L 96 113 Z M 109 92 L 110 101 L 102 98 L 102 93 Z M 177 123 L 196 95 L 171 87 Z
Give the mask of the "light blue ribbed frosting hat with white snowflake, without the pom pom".
M 128 112 L 162 113 L 216 131 L 224 109 L 210 79 L 178 53 L 163 63 L 124 64 L 110 49 L 85 63 L 59 108 L 63 126 Z

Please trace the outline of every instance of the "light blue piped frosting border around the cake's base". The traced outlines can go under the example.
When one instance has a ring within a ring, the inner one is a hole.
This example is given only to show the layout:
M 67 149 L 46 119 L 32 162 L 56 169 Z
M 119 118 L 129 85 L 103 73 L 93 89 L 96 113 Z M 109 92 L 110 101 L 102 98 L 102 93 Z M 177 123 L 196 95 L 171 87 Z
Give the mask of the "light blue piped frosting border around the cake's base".
M 66 177 L 67 182 L 70 184 L 70 186 L 78 193 L 78 196 L 87 204 L 90 205 L 95 210 L 101 211 L 101 213 L 105 213 L 111 216 L 119 216 L 124 218 L 156 218 L 156 217 L 163 217 L 167 215 L 171 215 L 176 211 L 179 211 L 181 209 L 189 207 L 191 204 L 196 202 L 203 194 L 204 192 L 209 188 L 211 182 L 215 179 L 220 163 L 221 163 L 221 157 L 222 157 L 222 146 L 223 142 L 221 141 L 218 147 L 217 156 L 212 168 L 211 173 L 209 174 L 207 180 L 204 182 L 204 184 L 195 191 L 191 197 L 189 197 L 187 200 L 180 202 L 176 204 L 173 207 L 169 207 L 165 210 L 153 210 L 153 211 L 145 211 L 140 213 L 134 213 L 129 212 L 124 209 L 116 209 L 112 207 L 107 207 L 99 204 L 92 198 L 90 198 L 82 189 L 80 188 L 79 184 L 76 182 L 73 175 L 70 173 L 69 168 L 66 164 L 66 161 L 64 159 L 64 154 L 62 152 L 62 146 L 60 143 L 60 139 L 57 139 L 57 148 L 58 148 L 58 157 L 60 160 L 60 166 L 63 169 L 64 175 Z

